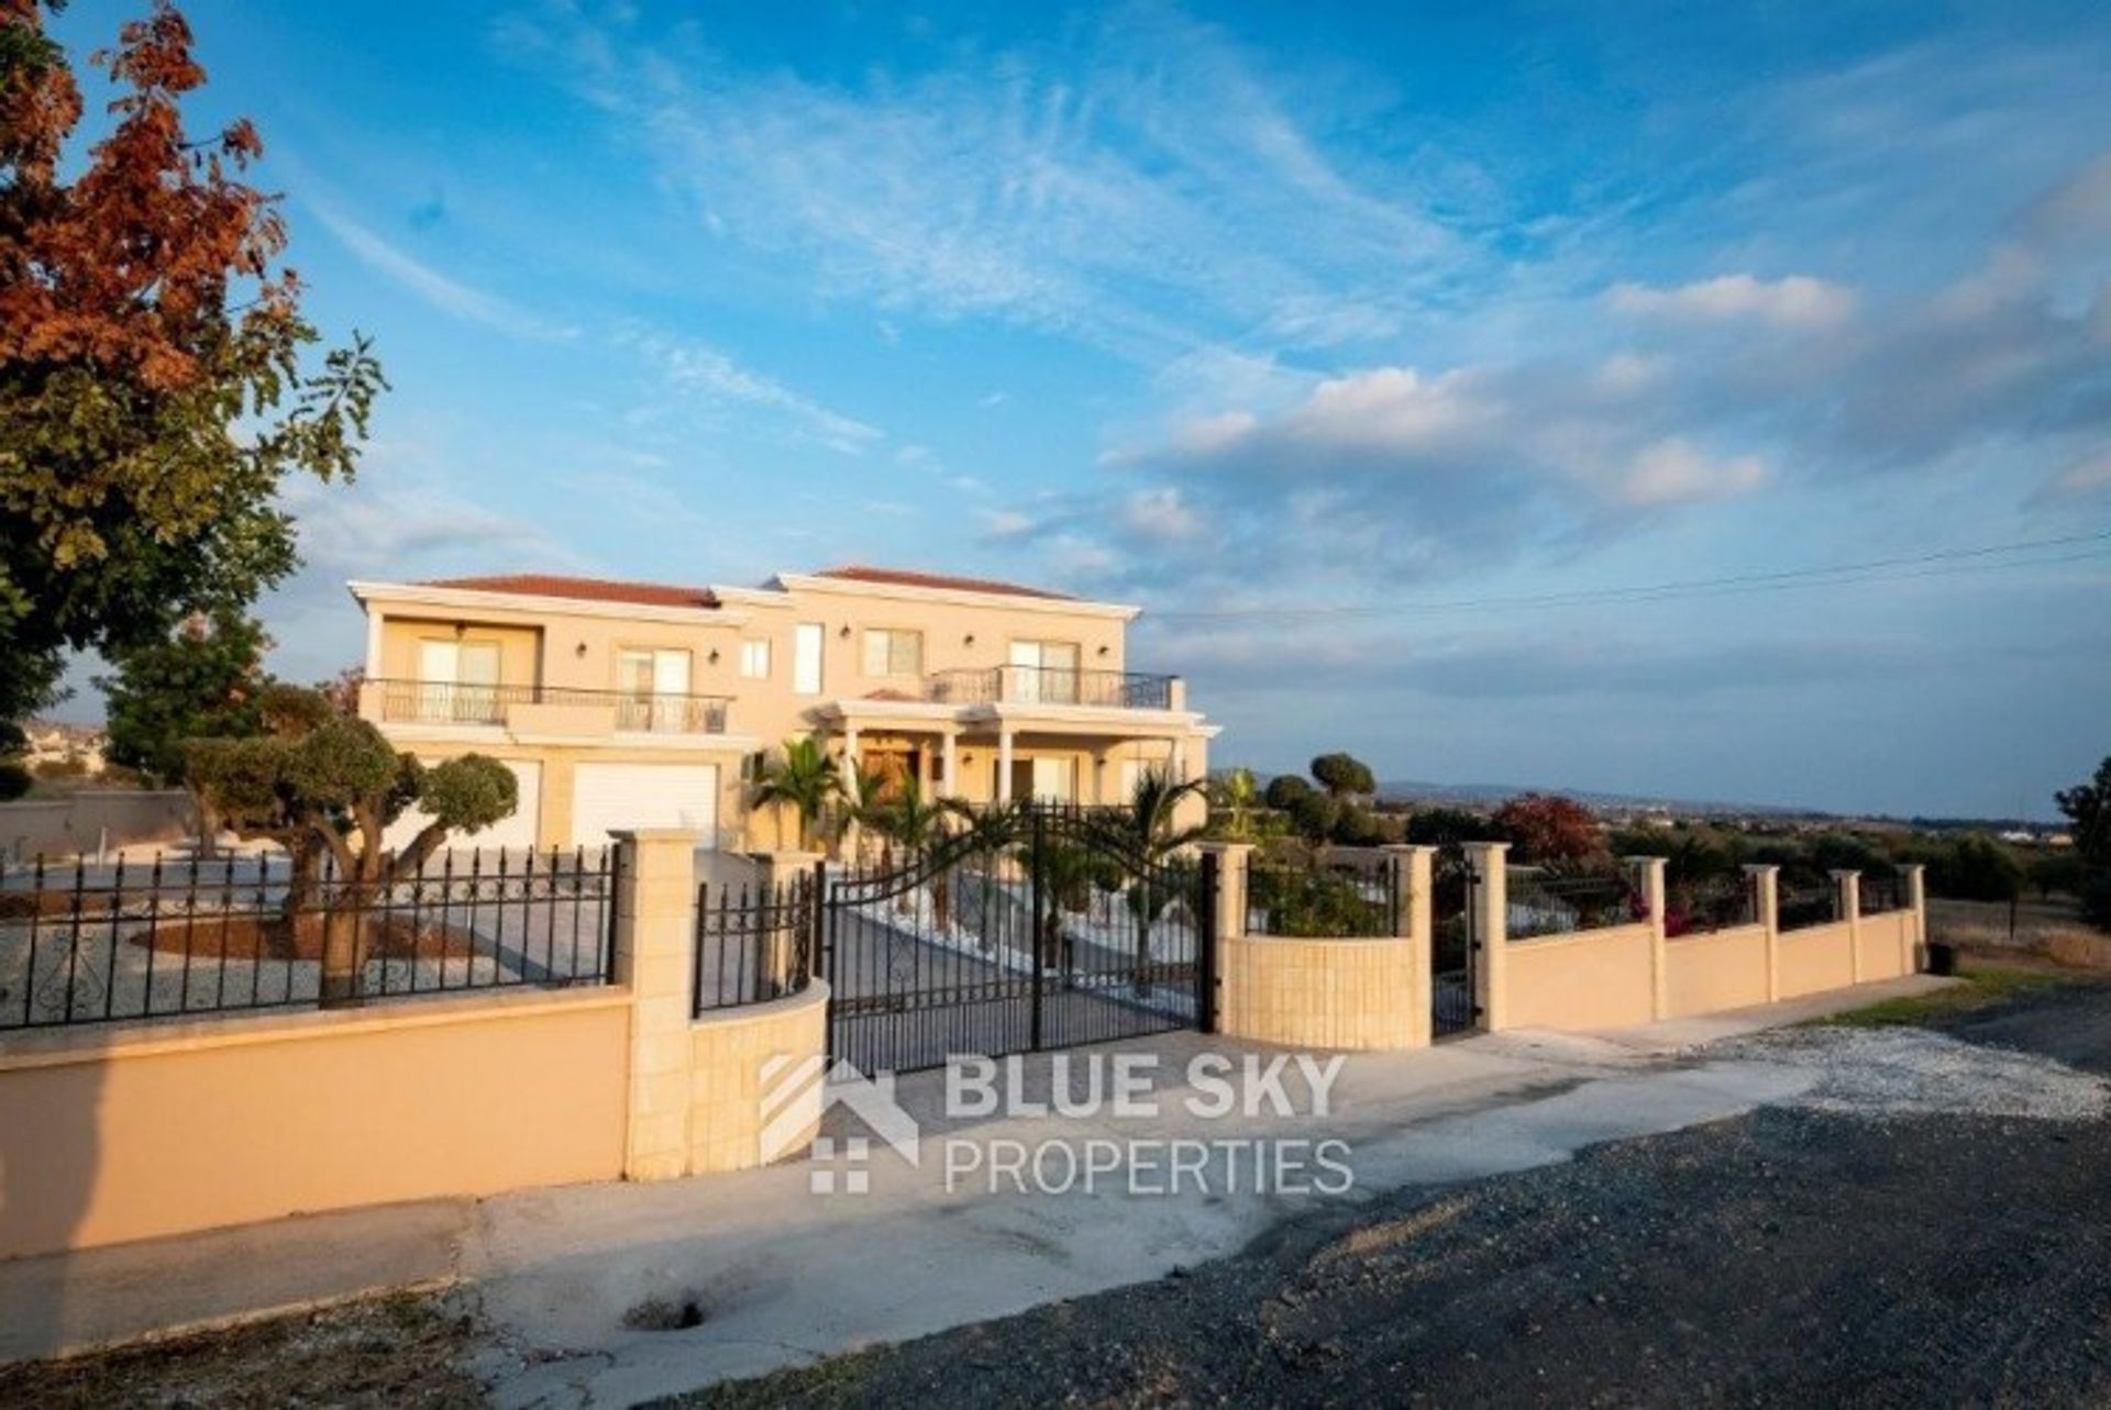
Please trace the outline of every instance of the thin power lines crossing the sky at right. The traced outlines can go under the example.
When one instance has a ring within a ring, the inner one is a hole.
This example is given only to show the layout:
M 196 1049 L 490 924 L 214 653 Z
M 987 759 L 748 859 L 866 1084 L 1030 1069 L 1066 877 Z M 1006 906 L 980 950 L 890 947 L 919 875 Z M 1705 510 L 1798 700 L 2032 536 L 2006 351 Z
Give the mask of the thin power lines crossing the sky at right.
M 1780 572 L 1748 572 L 1720 578 L 1678 578 L 1670 583 L 1640 583 L 1630 587 L 1573 589 L 1564 593 L 1528 593 L 1511 597 L 1454 597 L 1438 602 L 1391 602 L 1391 604 L 1347 604 L 1347 606 L 1288 606 L 1288 608 L 1220 608 L 1191 612 L 1153 612 L 1157 621 L 1292 621 L 1317 616 L 1406 616 L 1419 612 L 1478 612 L 1490 608 L 1564 608 L 1617 602 L 1672 602 L 1678 597 L 1731 597 L 1739 593 L 1765 593 L 1792 587 L 1851 587 L 1860 583 L 1896 583 L 1913 578 L 1955 576 L 1963 572 L 2005 572 L 2012 568 L 2048 568 L 2056 564 L 2079 564 L 2111 555 L 2111 549 L 2065 553 L 2056 557 L 2033 557 L 2003 564 L 1986 564 L 2005 553 L 2029 553 L 2039 549 L 2062 549 L 2075 545 L 2107 545 L 2111 530 L 2096 534 L 2062 534 L 2056 538 L 2024 538 L 2016 542 L 1980 545 L 1972 549 L 1938 549 L 1908 557 L 1877 557 L 1860 564 L 1834 564 L 1830 568 L 1786 568 Z M 1919 572 L 1900 572 L 1919 570 Z

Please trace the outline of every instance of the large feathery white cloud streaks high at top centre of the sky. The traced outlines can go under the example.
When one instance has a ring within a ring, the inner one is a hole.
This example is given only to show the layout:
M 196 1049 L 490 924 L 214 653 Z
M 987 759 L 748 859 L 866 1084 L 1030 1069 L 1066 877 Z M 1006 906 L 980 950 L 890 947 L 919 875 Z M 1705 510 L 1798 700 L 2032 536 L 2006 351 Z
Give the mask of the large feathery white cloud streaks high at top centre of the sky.
M 642 144 L 707 239 L 889 317 L 992 315 L 1140 361 L 1222 336 L 1332 346 L 1391 334 L 1473 253 L 1172 11 L 857 84 L 671 59 L 623 19 L 505 40 Z

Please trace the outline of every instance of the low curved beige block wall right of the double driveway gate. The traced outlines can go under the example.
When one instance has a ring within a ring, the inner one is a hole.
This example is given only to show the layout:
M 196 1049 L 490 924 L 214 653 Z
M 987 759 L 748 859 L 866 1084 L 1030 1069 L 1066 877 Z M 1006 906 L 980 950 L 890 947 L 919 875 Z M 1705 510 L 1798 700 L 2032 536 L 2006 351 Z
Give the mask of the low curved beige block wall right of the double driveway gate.
M 1419 950 L 1404 937 L 1218 941 L 1218 1032 L 1288 1047 L 1412 1047 Z

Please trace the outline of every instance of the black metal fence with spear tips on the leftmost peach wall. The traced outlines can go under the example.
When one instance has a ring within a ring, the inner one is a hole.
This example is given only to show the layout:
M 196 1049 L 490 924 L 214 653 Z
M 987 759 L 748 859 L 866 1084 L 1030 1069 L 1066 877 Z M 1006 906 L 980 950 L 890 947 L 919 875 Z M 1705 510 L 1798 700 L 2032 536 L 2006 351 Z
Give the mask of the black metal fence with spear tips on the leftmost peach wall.
M 614 853 L 441 853 L 357 882 L 285 855 L 78 859 L 0 872 L 0 1030 L 604 984 Z

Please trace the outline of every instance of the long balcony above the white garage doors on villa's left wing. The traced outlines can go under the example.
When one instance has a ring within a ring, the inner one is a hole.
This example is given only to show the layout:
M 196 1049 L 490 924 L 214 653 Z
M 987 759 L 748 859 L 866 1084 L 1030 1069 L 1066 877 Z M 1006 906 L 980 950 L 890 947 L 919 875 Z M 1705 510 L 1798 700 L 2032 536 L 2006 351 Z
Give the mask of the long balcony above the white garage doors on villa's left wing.
M 536 735 L 724 735 L 726 705 L 722 694 L 369 680 L 361 713 L 382 724 L 486 724 Z

